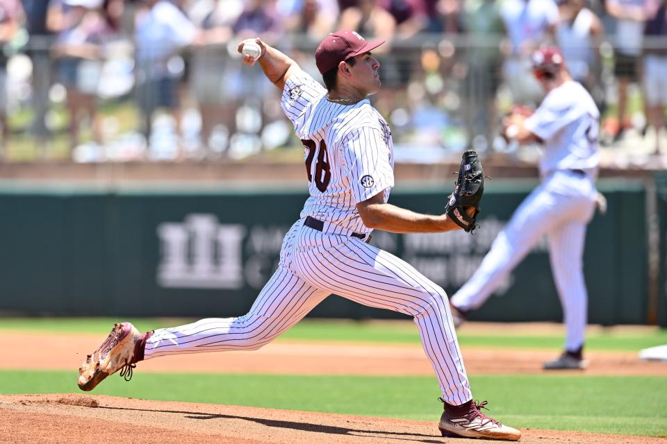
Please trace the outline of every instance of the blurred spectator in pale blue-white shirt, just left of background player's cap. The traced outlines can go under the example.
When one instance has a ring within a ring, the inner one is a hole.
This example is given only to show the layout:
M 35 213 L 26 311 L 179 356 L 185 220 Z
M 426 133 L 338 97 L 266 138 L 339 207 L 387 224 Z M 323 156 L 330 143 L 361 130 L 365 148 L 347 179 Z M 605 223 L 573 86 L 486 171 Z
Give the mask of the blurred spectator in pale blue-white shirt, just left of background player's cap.
M 532 75 L 530 54 L 540 44 L 554 40 L 558 6 L 553 0 L 504 0 L 501 15 L 510 40 L 504 80 L 514 103 L 536 104 L 544 93 Z

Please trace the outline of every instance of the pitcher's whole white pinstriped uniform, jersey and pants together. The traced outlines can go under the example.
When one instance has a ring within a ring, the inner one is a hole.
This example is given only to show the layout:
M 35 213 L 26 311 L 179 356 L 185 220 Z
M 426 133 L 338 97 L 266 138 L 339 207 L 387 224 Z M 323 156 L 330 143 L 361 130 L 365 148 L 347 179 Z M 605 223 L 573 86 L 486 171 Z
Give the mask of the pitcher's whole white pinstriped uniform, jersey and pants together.
M 443 400 L 463 404 L 472 394 L 445 291 L 399 257 L 350 235 L 370 232 L 356 203 L 383 190 L 388 198 L 394 184 L 389 128 L 368 100 L 345 106 L 325 94 L 302 72 L 290 76 L 283 90 L 283 110 L 306 147 L 311 196 L 283 240 L 277 271 L 250 311 L 155 330 L 145 359 L 256 350 L 336 293 L 413 316 Z M 307 216 L 322 221 L 322 231 L 304 225 Z

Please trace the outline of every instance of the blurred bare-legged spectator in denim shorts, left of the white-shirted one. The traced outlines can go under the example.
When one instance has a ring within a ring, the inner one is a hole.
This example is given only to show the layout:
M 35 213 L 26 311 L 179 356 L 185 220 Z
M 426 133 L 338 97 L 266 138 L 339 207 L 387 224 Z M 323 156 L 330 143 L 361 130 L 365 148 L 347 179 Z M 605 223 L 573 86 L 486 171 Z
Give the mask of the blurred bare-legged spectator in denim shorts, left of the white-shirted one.
M 67 90 L 72 150 L 79 145 L 82 114 L 90 119 L 94 142 L 98 146 L 102 144 L 97 82 L 101 74 L 102 44 L 114 33 L 103 12 L 103 3 L 103 0 L 63 0 L 59 10 L 49 11 L 49 26 L 60 29 L 52 54 L 58 60 L 58 80 Z

